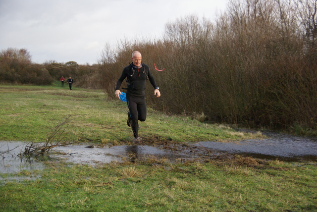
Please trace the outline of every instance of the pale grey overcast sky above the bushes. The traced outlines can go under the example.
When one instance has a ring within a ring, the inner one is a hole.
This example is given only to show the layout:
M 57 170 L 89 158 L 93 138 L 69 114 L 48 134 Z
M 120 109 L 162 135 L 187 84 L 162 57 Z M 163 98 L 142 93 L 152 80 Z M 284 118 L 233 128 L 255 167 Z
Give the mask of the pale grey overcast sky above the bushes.
M 0 0 L 0 50 L 27 49 L 32 61 L 93 64 L 108 43 L 160 38 L 166 23 L 215 19 L 229 0 Z

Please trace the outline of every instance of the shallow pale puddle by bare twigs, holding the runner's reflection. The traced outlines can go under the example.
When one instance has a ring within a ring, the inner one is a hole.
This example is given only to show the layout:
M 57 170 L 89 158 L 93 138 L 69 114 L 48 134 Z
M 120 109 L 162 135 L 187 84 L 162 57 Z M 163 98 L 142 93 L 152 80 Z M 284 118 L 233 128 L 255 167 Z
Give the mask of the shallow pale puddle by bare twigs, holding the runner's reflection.
M 23 170 L 43 169 L 45 167 L 42 161 L 21 159 L 18 156 L 24 151 L 26 145 L 27 143 L 19 141 L 0 141 L 0 173 L 14 173 Z M 90 144 L 81 144 L 55 147 L 50 151 L 51 159 L 90 165 L 109 163 L 111 161 L 135 161 L 136 159 L 145 159 L 147 157 L 176 160 L 186 156 L 164 147 L 146 145 L 92 146 Z

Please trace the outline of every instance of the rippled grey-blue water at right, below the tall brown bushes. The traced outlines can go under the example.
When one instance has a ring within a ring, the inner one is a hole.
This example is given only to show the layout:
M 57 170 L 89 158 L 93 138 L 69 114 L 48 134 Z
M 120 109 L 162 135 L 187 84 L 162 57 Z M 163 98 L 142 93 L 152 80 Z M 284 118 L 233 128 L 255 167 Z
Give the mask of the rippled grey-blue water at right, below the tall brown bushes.
M 239 154 L 260 159 L 317 161 L 317 138 L 304 138 L 274 132 L 262 132 L 262 134 L 267 138 L 229 143 L 198 142 L 194 145 L 228 154 Z

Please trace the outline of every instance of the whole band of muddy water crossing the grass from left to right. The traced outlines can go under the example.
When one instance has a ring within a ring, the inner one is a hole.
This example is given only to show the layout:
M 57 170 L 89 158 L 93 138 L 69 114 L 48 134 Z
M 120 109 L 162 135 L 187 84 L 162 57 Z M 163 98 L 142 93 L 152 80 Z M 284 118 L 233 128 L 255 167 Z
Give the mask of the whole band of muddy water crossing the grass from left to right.
M 135 161 L 149 157 L 166 158 L 171 161 L 188 159 L 212 159 L 219 156 L 243 155 L 260 159 L 280 159 L 287 161 L 317 161 L 317 138 L 303 138 L 281 133 L 263 132 L 268 138 L 242 140 L 229 143 L 198 142 L 169 146 L 93 146 L 70 145 L 53 148 L 53 159 L 75 164 L 97 165 L 111 161 Z M 43 169 L 44 162 L 35 159 L 20 159 L 18 154 L 26 143 L 0 141 L 0 173 L 16 173 L 23 170 Z M 7 150 L 9 152 L 5 153 Z M 56 154 L 58 153 L 58 154 Z

